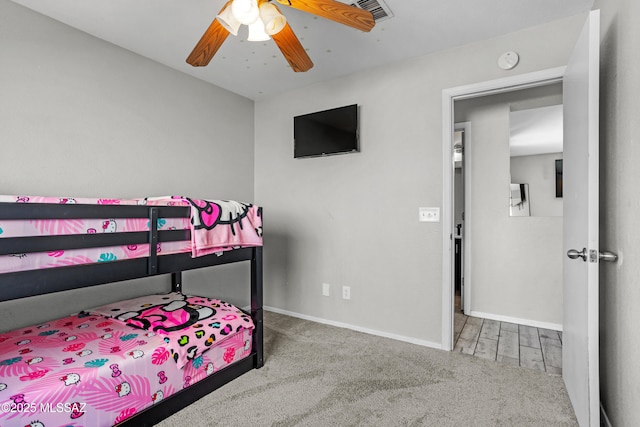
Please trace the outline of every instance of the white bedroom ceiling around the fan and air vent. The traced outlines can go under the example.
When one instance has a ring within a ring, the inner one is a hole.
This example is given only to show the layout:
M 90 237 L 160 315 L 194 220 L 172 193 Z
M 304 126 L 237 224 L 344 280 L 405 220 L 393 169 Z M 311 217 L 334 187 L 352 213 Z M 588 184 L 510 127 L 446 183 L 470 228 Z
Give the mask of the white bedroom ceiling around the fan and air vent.
M 185 59 L 226 0 L 13 0 L 251 99 L 586 12 L 594 0 L 385 0 L 370 33 L 282 6 L 315 66 L 294 73 L 273 41 L 230 36 L 207 67 Z M 347 3 L 347 0 L 342 0 Z

